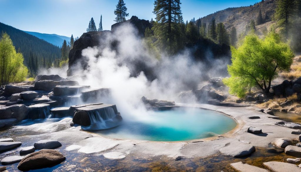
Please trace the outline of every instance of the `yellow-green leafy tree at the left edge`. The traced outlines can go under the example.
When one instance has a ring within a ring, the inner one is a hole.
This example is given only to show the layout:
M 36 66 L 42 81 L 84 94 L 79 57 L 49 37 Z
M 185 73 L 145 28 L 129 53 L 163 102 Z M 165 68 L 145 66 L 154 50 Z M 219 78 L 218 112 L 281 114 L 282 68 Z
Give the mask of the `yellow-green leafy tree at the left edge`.
M 23 55 L 16 49 L 7 33 L 0 39 L 0 79 L 1 84 L 24 81 L 28 69 L 23 64 Z

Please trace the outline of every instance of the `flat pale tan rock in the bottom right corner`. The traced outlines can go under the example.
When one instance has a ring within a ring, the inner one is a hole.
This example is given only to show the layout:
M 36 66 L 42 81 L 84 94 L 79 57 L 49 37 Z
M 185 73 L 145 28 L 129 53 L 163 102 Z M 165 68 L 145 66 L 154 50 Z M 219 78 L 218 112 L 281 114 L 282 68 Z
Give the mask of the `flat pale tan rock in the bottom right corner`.
M 264 162 L 263 165 L 273 172 L 301 172 L 301 168 L 298 168 L 295 164 L 270 161 Z

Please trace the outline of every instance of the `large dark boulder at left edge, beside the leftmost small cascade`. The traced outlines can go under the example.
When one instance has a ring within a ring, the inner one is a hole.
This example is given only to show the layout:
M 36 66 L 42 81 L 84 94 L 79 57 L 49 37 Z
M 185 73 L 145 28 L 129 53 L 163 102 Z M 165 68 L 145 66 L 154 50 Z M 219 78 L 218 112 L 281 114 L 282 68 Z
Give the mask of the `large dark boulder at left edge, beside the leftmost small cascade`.
M 25 105 L 13 105 L 0 107 L 0 119 L 16 118 L 21 121 L 26 118 L 28 108 Z

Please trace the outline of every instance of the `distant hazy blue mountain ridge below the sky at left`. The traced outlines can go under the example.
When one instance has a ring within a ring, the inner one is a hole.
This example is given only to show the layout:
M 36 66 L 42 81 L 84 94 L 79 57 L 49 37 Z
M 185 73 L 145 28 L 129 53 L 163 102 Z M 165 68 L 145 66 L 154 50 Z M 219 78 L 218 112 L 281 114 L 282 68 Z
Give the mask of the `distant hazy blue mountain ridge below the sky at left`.
M 28 33 L 30 35 L 36 36 L 40 39 L 43 39 L 53 45 L 57 45 L 59 47 L 62 46 L 64 40 L 67 42 L 70 41 L 70 37 L 67 36 L 61 36 L 57 34 L 48 34 L 48 33 L 38 33 L 38 32 L 29 32 L 29 31 L 24 31 L 25 33 Z

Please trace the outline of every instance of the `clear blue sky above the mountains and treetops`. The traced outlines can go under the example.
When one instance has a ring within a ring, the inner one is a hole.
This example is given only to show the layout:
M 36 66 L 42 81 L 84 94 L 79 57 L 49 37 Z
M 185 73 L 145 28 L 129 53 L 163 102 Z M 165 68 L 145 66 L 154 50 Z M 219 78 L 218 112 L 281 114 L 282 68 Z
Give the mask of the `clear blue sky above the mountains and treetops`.
M 184 20 L 204 17 L 228 7 L 253 5 L 260 0 L 181 0 Z M 21 30 L 81 36 L 91 17 L 96 26 L 103 16 L 104 30 L 115 22 L 114 9 L 118 0 L 0 0 L 0 22 Z M 124 0 L 130 19 L 155 18 L 154 0 Z

